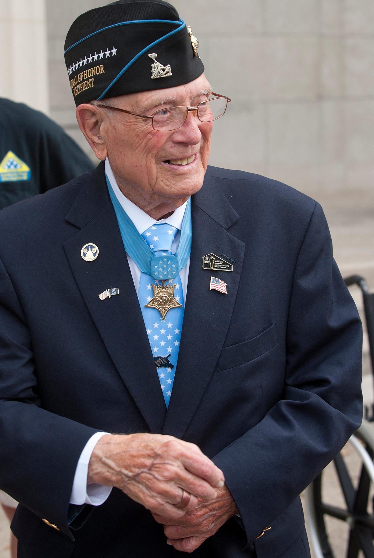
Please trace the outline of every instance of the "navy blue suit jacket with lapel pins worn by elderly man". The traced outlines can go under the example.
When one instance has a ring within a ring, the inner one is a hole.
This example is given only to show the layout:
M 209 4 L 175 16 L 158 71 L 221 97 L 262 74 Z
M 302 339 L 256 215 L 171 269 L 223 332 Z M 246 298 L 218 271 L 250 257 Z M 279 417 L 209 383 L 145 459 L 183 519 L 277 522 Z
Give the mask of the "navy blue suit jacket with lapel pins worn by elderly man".
M 361 324 L 323 211 L 279 182 L 208 167 L 192 221 L 166 412 L 103 164 L 1 211 L 0 488 L 21 503 L 21 556 L 180 555 L 118 489 L 74 518 L 76 463 L 100 430 L 176 436 L 222 468 L 244 528 L 230 519 L 195 556 L 308 555 L 298 495 L 362 417 Z M 211 252 L 235 262 L 215 274 L 227 295 L 209 290 Z M 101 301 L 107 287 L 119 296 Z

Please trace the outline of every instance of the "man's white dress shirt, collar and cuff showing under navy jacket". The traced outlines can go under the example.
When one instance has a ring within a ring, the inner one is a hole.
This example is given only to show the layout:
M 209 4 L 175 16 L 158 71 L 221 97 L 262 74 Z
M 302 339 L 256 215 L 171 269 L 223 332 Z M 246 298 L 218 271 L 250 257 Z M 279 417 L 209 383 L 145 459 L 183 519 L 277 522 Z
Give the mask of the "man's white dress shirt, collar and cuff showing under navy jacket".
M 149 227 L 152 227 L 154 223 L 167 223 L 172 227 L 178 229 L 178 233 L 176 234 L 176 237 L 171 247 L 172 253 L 175 253 L 176 249 L 179 246 L 180 230 L 182 228 L 182 221 L 183 221 L 184 211 L 186 209 L 187 202 L 181 205 L 178 209 L 176 209 L 174 213 L 170 215 L 170 217 L 167 217 L 166 219 L 160 219 L 159 221 L 155 221 L 155 219 L 150 217 L 142 209 L 138 208 L 137 205 L 133 204 L 132 201 L 126 198 L 126 196 L 122 194 L 121 190 L 119 190 L 117 180 L 114 178 L 113 171 L 111 169 L 111 165 L 109 165 L 108 158 L 106 159 L 105 162 L 105 171 L 108 176 L 109 182 L 111 182 L 111 186 L 113 188 L 114 194 L 116 194 L 119 203 L 122 205 L 127 215 L 131 218 L 133 224 L 135 225 L 135 227 L 137 228 L 140 234 L 144 232 L 146 229 L 148 229 Z M 128 265 L 130 266 L 132 280 L 134 282 L 136 291 L 138 291 L 141 271 L 136 265 L 136 263 L 133 261 L 133 259 L 130 258 L 128 254 L 126 255 L 127 255 Z M 179 273 L 180 280 L 182 283 L 182 288 L 183 288 L 184 302 L 186 302 L 189 268 L 190 268 L 190 258 L 188 258 L 188 262 L 186 263 L 186 266 Z M 88 463 L 91 454 L 99 439 L 105 434 L 107 434 L 107 432 L 96 432 L 96 434 L 90 437 L 87 444 L 84 446 L 82 453 L 80 454 L 78 465 L 76 466 L 76 470 L 75 470 L 73 489 L 71 490 L 71 496 L 70 496 L 71 504 L 92 504 L 92 506 L 100 506 L 100 504 L 106 501 L 109 494 L 111 493 L 112 487 L 106 487 L 103 486 L 102 484 L 87 485 Z

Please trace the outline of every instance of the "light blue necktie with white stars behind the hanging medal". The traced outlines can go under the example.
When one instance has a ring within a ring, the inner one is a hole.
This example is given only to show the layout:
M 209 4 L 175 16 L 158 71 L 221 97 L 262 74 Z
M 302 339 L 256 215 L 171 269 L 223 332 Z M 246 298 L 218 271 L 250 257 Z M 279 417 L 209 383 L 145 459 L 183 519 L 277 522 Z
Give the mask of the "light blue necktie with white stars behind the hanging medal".
M 171 246 L 176 233 L 178 233 L 178 229 L 171 227 L 167 223 L 155 223 L 142 233 L 142 237 L 156 256 L 164 256 L 165 263 L 162 264 L 164 267 L 168 265 L 167 256 L 172 254 Z M 171 263 L 169 264 L 171 265 Z M 165 269 L 167 270 L 167 267 Z M 142 272 L 139 281 L 138 299 L 167 408 L 169 406 L 172 384 L 174 383 L 183 324 L 183 288 L 179 275 L 165 283 L 165 286 L 169 285 L 169 283 L 171 285 L 175 284 L 174 297 L 182 306 L 171 308 L 167 312 L 165 320 L 162 320 L 159 310 L 145 307 L 145 304 L 150 302 L 154 295 L 152 283 L 154 285 L 157 283 L 160 286 L 162 285 L 161 281 L 157 281 L 151 275 Z

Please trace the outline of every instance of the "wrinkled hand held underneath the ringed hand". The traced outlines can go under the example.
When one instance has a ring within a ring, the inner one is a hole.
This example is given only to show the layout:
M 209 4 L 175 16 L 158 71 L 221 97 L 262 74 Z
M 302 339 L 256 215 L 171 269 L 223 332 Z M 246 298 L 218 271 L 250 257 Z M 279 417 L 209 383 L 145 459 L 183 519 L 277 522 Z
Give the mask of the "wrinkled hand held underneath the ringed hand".
M 156 513 L 152 515 L 157 523 L 164 524 L 167 544 L 182 552 L 193 552 L 235 513 L 238 513 L 238 509 L 225 485 L 217 490 L 217 498 L 211 502 L 200 501 L 182 518 L 170 519 Z

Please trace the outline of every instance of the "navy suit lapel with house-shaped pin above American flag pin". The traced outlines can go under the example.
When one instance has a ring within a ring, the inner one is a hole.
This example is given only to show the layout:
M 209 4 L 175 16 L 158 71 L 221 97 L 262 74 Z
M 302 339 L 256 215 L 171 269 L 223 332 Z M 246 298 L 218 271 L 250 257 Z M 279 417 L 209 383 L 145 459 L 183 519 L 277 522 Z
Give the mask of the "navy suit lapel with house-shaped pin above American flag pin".
M 162 434 L 183 437 L 212 376 L 231 321 L 245 244 L 227 232 L 238 215 L 211 176 L 192 198 L 193 239 L 178 364 Z M 203 256 L 227 254 L 233 272 L 203 270 Z M 210 276 L 227 295 L 209 291 Z

